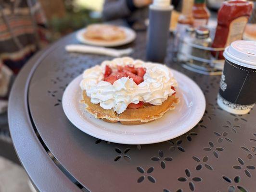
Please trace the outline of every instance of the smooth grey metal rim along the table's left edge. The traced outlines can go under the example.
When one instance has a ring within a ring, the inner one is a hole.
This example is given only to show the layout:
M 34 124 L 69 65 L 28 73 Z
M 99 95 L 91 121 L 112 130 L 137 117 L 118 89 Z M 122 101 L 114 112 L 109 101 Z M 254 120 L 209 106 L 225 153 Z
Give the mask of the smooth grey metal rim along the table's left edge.
M 29 83 L 34 71 L 40 60 L 57 47 L 59 42 L 39 51 L 16 77 L 9 97 L 8 122 L 15 152 L 38 191 L 81 192 L 54 164 L 40 143 L 30 120 L 27 104 Z

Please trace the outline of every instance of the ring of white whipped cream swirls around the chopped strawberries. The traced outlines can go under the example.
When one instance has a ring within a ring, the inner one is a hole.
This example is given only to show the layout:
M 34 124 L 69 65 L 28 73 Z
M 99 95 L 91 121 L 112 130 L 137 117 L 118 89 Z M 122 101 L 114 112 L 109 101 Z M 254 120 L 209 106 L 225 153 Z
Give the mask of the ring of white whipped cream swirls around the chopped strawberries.
M 114 84 L 110 84 L 102 80 L 106 65 L 113 70 L 117 70 L 117 66 L 125 65 L 134 65 L 135 68 L 144 67 L 146 69 L 144 81 L 137 85 L 133 79 L 123 77 L 116 80 Z M 139 101 L 161 105 L 168 96 L 175 93 L 171 86 L 177 87 L 178 84 L 165 65 L 133 60 L 128 57 L 103 61 L 101 65 L 85 70 L 80 83 L 81 89 L 85 90 L 87 96 L 91 98 L 91 103 L 100 103 L 104 109 L 113 108 L 118 114 L 124 112 L 130 103 L 138 104 Z

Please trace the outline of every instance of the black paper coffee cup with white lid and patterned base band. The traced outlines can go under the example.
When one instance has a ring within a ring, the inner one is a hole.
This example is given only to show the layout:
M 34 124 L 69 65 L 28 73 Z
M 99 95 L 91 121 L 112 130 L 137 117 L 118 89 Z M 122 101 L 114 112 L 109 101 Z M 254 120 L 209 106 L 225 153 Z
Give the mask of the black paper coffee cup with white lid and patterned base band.
M 256 41 L 234 41 L 223 55 L 218 105 L 233 114 L 246 114 L 256 102 Z

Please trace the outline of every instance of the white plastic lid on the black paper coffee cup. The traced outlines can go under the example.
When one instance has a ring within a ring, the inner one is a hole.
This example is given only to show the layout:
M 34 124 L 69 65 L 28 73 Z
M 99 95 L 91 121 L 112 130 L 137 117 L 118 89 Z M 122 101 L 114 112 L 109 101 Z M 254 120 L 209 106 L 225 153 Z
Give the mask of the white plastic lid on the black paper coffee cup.
M 224 57 L 235 64 L 256 69 L 256 41 L 234 41 L 225 48 Z

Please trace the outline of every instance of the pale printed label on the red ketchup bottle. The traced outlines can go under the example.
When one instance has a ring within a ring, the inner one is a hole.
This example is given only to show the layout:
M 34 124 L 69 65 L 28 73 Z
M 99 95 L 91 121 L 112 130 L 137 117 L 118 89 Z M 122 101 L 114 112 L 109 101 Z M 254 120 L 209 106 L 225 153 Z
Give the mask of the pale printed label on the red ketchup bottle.
M 247 17 L 243 16 L 230 23 L 229 35 L 225 47 L 229 46 L 232 42 L 243 38 L 243 31 L 247 22 Z

